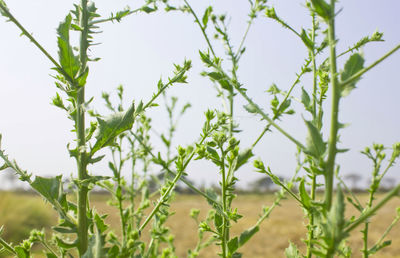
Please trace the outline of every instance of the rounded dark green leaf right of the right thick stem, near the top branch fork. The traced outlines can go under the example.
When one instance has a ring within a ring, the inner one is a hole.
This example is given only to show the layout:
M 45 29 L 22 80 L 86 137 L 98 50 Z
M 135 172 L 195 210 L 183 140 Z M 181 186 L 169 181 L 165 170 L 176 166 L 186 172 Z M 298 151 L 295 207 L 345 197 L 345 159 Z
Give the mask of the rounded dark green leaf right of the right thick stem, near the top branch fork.
M 344 65 L 344 70 L 340 73 L 340 80 L 344 82 L 351 76 L 355 75 L 358 71 L 362 70 L 364 68 L 364 61 L 365 60 L 362 55 L 358 53 L 351 55 L 349 60 L 347 60 L 346 64 Z M 341 89 L 341 94 L 343 97 L 349 95 L 350 92 L 355 89 L 356 82 L 358 80 L 360 80 L 360 78 L 347 85 L 344 85 L 344 87 Z

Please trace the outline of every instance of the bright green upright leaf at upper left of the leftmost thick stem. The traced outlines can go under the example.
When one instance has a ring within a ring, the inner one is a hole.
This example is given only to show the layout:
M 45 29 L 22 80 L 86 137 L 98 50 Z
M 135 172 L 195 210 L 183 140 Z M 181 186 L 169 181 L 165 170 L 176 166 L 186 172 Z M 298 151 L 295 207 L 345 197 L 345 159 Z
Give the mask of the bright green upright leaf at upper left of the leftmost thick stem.
M 80 62 L 74 55 L 72 46 L 69 42 L 69 30 L 71 28 L 72 17 L 68 14 L 65 21 L 61 22 L 57 29 L 58 56 L 60 65 L 64 72 L 72 79 L 75 78 L 80 68 Z M 61 72 L 61 71 L 59 71 Z M 61 72 L 62 73 L 62 72 Z

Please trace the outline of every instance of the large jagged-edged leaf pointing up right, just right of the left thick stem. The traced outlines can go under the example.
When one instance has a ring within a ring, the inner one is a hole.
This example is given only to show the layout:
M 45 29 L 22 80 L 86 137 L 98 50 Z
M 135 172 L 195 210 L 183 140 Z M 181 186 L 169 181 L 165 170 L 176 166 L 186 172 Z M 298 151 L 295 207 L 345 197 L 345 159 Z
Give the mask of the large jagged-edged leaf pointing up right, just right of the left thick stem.
M 115 137 L 122 132 L 132 128 L 135 121 L 135 105 L 132 103 L 130 108 L 125 112 L 112 114 L 105 120 L 97 118 L 99 122 L 98 133 L 96 135 L 96 143 L 91 149 L 91 156 L 98 150 L 112 145 Z

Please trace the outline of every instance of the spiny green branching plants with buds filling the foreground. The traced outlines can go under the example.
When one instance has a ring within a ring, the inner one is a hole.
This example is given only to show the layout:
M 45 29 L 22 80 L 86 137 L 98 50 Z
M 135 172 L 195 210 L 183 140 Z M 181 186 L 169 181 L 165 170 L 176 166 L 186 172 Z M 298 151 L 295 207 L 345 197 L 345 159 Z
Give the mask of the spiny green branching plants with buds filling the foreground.
M 382 41 L 383 35 L 375 32 L 337 54 L 335 5 L 334 0 L 305 1 L 310 13 L 311 26 L 309 29 L 297 31 L 280 17 L 266 0 L 249 1 L 248 25 L 237 44 L 238 47 L 235 48 L 236 44 L 233 44 L 230 37 L 227 15 L 217 14 L 212 6 L 207 7 L 200 18 L 187 0 L 179 3 L 148 0 L 138 9 L 128 8 L 112 14 L 109 18 L 101 19 L 93 2 L 81 0 L 58 27 L 57 61 L 26 31 L 0 0 L 1 14 L 14 23 L 55 66 L 54 78 L 58 93 L 53 98 L 53 105 L 65 111 L 74 124 L 75 143 L 68 145 L 68 150 L 70 156 L 76 160 L 78 175 L 73 179 L 77 190 L 77 202 L 74 203 L 67 198 L 63 190 L 61 176 L 36 176 L 32 179 L 31 174 L 22 170 L 0 149 L 0 157 L 4 161 L 2 169 L 14 169 L 20 179 L 28 182 L 59 214 L 59 224 L 53 227 L 53 240 L 47 241 L 43 232 L 32 231 L 30 238 L 17 246 L 0 238 L 4 250 L 18 257 L 29 257 L 32 244 L 39 242 L 43 245 L 47 257 L 76 254 L 79 257 L 176 257 L 174 237 L 166 222 L 173 215 L 169 205 L 173 201 L 174 189 L 180 181 L 203 196 L 211 207 L 203 221 L 198 219 L 199 212 L 196 210 L 190 215 L 199 225 L 199 241 L 193 250 L 188 251 L 189 257 L 199 256 L 202 249 L 213 243 L 220 247 L 221 257 L 241 257 L 239 249 L 260 230 L 260 224 L 286 196 L 298 202 L 308 223 L 304 241 L 306 253 L 301 254 L 296 245 L 290 243 L 285 251 L 287 257 L 349 257 L 352 251 L 346 244 L 346 238 L 359 225 L 364 225 L 364 257 L 389 245 L 390 242 L 385 241 L 385 237 L 400 220 L 400 216 L 397 214 L 382 238 L 372 247 L 368 246 L 369 219 L 386 202 L 399 194 L 400 185 L 397 185 L 384 198 L 374 203 L 383 176 L 400 156 L 400 144 L 393 145 L 391 157 L 383 171 L 386 148 L 375 144 L 372 151 L 370 148 L 363 151 L 373 162 L 370 196 L 366 205 L 362 205 L 341 180 L 340 166 L 336 158 L 339 153 L 347 151 L 338 146 L 339 131 L 344 128 L 339 122 L 340 100 L 355 89 L 361 76 L 392 55 L 400 45 L 372 64 L 364 66 L 365 60 L 359 49 L 370 42 Z M 199 139 L 188 146 L 178 145 L 176 151 L 173 148 L 173 139 L 178 121 L 190 104 L 177 110 L 178 99 L 172 97 L 169 101 L 165 91 L 176 83 L 186 83 L 186 72 L 191 67 L 190 61 L 184 61 L 181 66 L 175 65 L 173 75 L 167 81 L 160 79 L 156 92 L 147 102 L 130 101 L 128 107 L 125 107 L 122 86 L 117 88 L 117 105 L 113 104 L 110 94 L 103 93 L 106 107 L 111 112 L 108 116 L 98 114 L 91 107 L 92 99 L 85 98 L 89 62 L 98 61 L 97 58 L 88 55 L 88 49 L 95 45 L 93 40 L 98 26 L 110 21 L 119 22 L 131 14 L 153 13 L 159 6 L 164 6 L 166 11 L 183 12 L 194 18 L 207 44 L 206 50 L 199 51 L 200 60 L 205 66 L 202 75 L 215 86 L 223 107 L 223 110 L 207 110 Z M 304 44 L 307 49 L 307 57 L 289 89 L 284 91 L 274 84 L 267 90 L 271 94 L 270 112 L 263 108 L 264 103 L 256 103 L 249 96 L 247 86 L 238 78 L 247 35 L 259 16 L 265 16 L 263 18 L 271 19 L 290 33 L 294 33 L 299 43 Z M 79 34 L 77 48 L 70 43 L 70 33 Z M 222 42 L 226 50 L 224 54 L 217 52 L 215 41 L 210 35 Z M 328 52 L 327 56 L 324 55 L 324 51 Z M 347 57 L 342 69 L 338 68 L 338 59 L 341 57 Z M 299 87 L 305 74 L 311 74 L 310 86 L 303 87 L 301 95 L 296 97 L 295 88 Z M 152 120 L 146 111 L 157 106 L 155 100 L 160 95 L 164 96 L 169 123 L 166 131 L 158 135 L 165 149 L 157 151 L 152 145 Z M 247 102 L 244 109 L 261 118 L 261 123 L 265 124 L 264 129 L 248 147 L 243 147 L 238 140 L 242 135 L 235 115 L 239 97 Z M 331 109 L 326 126 L 323 121 L 324 103 L 327 98 L 330 98 Z M 304 112 L 306 117 L 303 117 L 303 120 L 308 136 L 304 143 L 279 124 L 281 119 L 290 119 L 290 116 L 295 114 L 295 101 L 301 104 L 300 111 Z M 87 121 L 90 121 L 90 126 L 85 124 Z M 285 181 L 266 166 L 261 158 L 253 161 L 255 170 L 270 177 L 280 190 L 273 203 L 262 209 L 259 220 L 252 227 L 237 236 L 232 236 L 232 225 L 242 218 L 234 202 L 238 180 L 236 173 L 256 156 L 255 146 L 272 129 L 297 147 L 297 168 L 292 178 Z M 329 131 L 328 137 L 323 136 L 324 130 Z M 88 170 L 91 164 L 100 162 L 105 157 L 99 154 L 104 149 L 111 153 L 108 166 L 112 177 L 95 176 Z M 216 166 L 220 176 L 218 191 L 203 191 L 185 178 L 189 164 L 195 160 L 211 162 Z M 128 164 L 131 170 L 125 178 L 123 171 Z M 158 172 L 151 173 L 153 169 L 158 169 Z M 336 198 L 335 176 L 339 181 Z M 95 186 L 102 187 L 111 194 L 109 203 L 115 206 L 120 217 L 120 237 L 106 225 L 107 214 L 99 214 L 89 205 L 89 193 Z M 348 191 L 347 196 L 342 189 Z M 317 190 L 324 192 L 322 199 L 316 195 Z M 345 217 L 345 197 L 359 211 L 358 217 Z M 149 241 L 145 241 L 142 233 L 150 225 L 150 238 Z M 210 233 L 211 237 L 205 239 L 205 233 Z

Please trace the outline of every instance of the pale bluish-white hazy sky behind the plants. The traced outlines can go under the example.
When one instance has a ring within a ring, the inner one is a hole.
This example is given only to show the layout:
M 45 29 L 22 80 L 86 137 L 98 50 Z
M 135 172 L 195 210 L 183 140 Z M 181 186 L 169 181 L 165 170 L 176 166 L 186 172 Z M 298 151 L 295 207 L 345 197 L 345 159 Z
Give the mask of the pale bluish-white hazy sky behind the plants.
M 213 3 L 216 13 L 226 13 L 230 21 L 229 30 L 234 46 L 238 46 L 246 29 L 249 4 L 245 0 L 191 1 L 196 12 L 202 15 L 204 9 Z M 57 56 L 56 28 L 72 8 L 74 1 L 6 1 L 14 16 L 33 36 L 53 55 Z M 278 15 L 296 30 L 309 28 L 304 1 L 269 1 Z M 96 1 L 99 13 L 108 17 L 111 12 L 131 6 L 138 7 L 137 1 L 114 0 Z M 371 35 L 375 30 L 384 33 L 384 42 L 371 43 L 362 49 L 366 64 L 371 64 L 380 56 L 400 43 L 398 26 L 400 2 L 387 1 L 340 1 L 338 3 L 337 37 L 338 52 L 346 50 L 360 38 Z M 193 68 L 189 72 L 188 84 L 176 85 L 168 91 L 169 96 L 179 97 L 179 104 L 190 102 L 192 108 L 180 122 L 173 144 L 187 145 L 200 135 L 203 113 L 207 108 L 222 108 L 215 95 L 213 85 L 199 74 L 204 70 L 199 61 L 198 51 L 207 46 L 201 32 L 188 14 L 164 13 L 132 15 L 121 23 L 108 23 L 101 26 L 101 34 L 94 39 L 101 42 L 92 47 L 90 53 L 101 60 L 90 64 L 90 75 L 86 95 L 93 96 L 93 107 L 105 114 L 102 92 L 115 92 L 122 84 L 127 103 L 135 99 L 148 100 L 156 89 L 160 77 L 166 78 L 173 71 L 173 63 L 182 64 L 190 59 Z M 50 105 L 56 93 L 51 75 L 51 63 L 12 23 L 0 18 L 0 133 L 3 135 L 2 148 L 18 164 L 34 175 L 75 174 L 75 162 L 66 150 L 68 142 L 73 141 L 72 122 L 66 115 Z M 220 42 L 212 42 L 218 55 L 224 55 Z M 296 78 L 307 49 L 291 32 L 276 22 L 261 15 L 250 29 L 245 42 L 246 52 L 241 60 L 238 77 L 248 95 L 268 108 L 271 96 L 266 90 L 272 83 L 287 90 Z M 345 58 L 340 59 L 342 69 Z M 395 53 L 385 62 L 363 76 L 357 89 L 342 99 L 340 121 L 349 123 L 342 130 L 340 147 L 350 148 L 340 154 L 338 163 L 341 173 L 357 173 L 363 176 L 363 183 L 371 173 L 370 162 L 360 154 L 365 146 L 383 143 L 391 146 L 400 141 L 400 53 Z M 299 89 L 310 89 L 310 78 L 301 81 Z M 240 97 L 236 100 L 237 122 L 243 131 L 238 138 L 241 146 L 249 146 L 261 132 L 265 123 L 242 108 L 246 102 Z M 162 106 L 162 101 L 159 101 Z M 307 114 L 298 106 L 294 116 L 285 117 L 279 124 L 301 142 L 305 142 L 306 127 L 302 115 Z M 326 102 L 329 114 L 329 99 Z M 149 112 L 156 132 L 166 131 L 167 117 L 162 108 Z M 325 121 L 329 127 L 329 121 Z M 324 137 L 327 137 L 324 130 Z M 159 140 L 154 141 L 156 150 L 161 150 Z M 271 170 L 281 176 L 290 177 L 296 166 L 296 148 L 277 131 L 264 137 L 255 149 L 256 157 L 261 158 Z M 157 172 L 158 168 L 154 168 Z M 94 174 L 109 175 L 106 160 L 90 167 Z M 194 162 L 188 168 L 189 178 L 196 183 L 216 184 L 219 178 L 216 167 L 204 162 Z M 398 165 L 388 177 L 399 181 Z M 240 185 L 245 185 L 260 174 L 251 166 L 239 170 Z

